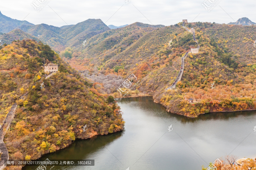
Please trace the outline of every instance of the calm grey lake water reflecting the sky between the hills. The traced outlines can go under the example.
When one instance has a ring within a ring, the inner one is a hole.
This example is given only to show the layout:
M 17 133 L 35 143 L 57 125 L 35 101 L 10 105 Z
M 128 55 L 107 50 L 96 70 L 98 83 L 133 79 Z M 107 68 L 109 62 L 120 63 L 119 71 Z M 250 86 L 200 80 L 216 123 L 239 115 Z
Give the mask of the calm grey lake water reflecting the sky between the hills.
M 40 159 L 95 160 L 95 166 L 55 166 L 52 170 L 201 170 L 226 154 L 256 157 L 256 111 L 188 118 L 167 112 L 151 97 L 117 99 L 117 103 L 125 120 L 123 132 L 76 140 Z

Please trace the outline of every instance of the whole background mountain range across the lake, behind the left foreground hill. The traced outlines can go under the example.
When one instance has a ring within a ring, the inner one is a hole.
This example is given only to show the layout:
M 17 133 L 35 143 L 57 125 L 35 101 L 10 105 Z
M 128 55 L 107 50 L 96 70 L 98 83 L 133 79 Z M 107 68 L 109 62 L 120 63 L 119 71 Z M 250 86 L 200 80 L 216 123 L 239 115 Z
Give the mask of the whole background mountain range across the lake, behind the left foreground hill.
M 252 22 L 241 18 L 237 23 Z M 62 27 L 22 24 L 0 35 L 0 39 L 8 43 L 25 36 L 41 40 L 85 76 L 116 75 L 126 79 L 133 73 L 140 80 L 137 89 L 174 113 L 196 117 L 205 112 L 254 108 L 256 27 L 209 22 L 185 25 L 195 29 L 200 50 L 185 60 L 177 91 L 164 89 L 175 81 L 181 67 L 180 58 L 197 47 L 182 22 L 170 26 L 135 22 L 119 29 L 110 29 L 100 19 Z M 170 41 L 172 45 L 168 44 Z M 101 78 L 96 76 L 93 80 L 102 83 Z M 220 94 L 211 90 L 212 82 Z M 114 93 L 117 88 L 102 85 L 97 90 Z M 247 99 L 248 96 L 252 98 Z M 188 97 L 201 103 L 188 105 L 184 101 Z M 214 102 L 214 107 L 209 102 Z M 228 107 L 223 107 L 221 102 Z

